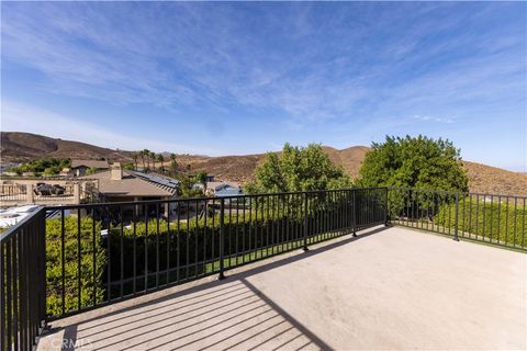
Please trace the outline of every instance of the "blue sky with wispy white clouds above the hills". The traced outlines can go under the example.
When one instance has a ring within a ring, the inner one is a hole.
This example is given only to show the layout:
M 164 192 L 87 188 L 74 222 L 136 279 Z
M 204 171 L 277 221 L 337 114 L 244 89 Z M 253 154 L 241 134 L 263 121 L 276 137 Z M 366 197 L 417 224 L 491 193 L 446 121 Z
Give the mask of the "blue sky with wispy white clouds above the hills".
M 1 129 L 205 155 L 444 137 L 526 170 L 525 2 L 2 2 Z

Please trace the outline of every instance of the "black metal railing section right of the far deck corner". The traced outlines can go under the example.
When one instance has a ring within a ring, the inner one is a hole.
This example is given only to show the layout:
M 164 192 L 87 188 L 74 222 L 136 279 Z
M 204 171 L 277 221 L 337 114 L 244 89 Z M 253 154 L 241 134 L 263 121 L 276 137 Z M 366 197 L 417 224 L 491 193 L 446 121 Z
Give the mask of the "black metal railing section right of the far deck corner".
M 390 188 L 391 224 L 527 251 L 527 197 Z

